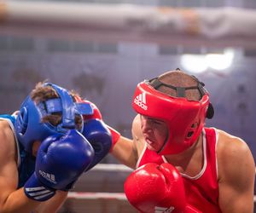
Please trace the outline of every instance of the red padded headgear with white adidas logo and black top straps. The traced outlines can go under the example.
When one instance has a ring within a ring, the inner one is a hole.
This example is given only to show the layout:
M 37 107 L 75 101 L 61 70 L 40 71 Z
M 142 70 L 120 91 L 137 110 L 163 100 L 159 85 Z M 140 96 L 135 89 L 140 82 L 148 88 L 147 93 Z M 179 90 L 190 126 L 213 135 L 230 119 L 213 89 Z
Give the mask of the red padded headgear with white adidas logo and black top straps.
M 132 107 L 139 114 L 165 121 L 168 126 L 169 135 L 159 154 L 182 153 L 191 147 L 201 134 L 205 118 L 212 118 L 214 111 L 207 89 L 196 81 L 197 86 L 187 88 L 162 83 L 158 78 L 138 83 Z M 158 91 L 160 86 L 177 90 L 177 97 Z M 197 89 L 201 100 L 187 100 L 184 95 L 187 89 Z

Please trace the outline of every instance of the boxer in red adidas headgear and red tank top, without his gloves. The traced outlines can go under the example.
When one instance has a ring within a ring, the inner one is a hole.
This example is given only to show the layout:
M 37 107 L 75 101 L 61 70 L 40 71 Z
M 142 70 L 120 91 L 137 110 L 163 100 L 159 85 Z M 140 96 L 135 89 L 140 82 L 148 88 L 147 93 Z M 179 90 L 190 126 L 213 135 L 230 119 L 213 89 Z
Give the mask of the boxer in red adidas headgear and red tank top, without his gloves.
M 253 155 L 241 138 L 205 127 L 213 107 L 203 83 L 180 70 L 165 72 L 139 83 L 132 105 L 133 139 L 119 137 L 115 158 L 132 169 L 172 164 L 187 203 L 202 212 L 253 212 Z

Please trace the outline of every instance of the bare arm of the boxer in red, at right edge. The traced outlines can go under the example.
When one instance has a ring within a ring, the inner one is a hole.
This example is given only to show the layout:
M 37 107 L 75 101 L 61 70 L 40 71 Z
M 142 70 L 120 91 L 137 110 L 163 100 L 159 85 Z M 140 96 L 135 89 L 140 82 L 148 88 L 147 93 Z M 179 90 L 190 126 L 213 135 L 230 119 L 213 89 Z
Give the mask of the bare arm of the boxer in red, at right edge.
M 217 152 L 220 209 L 252 213 L 255 164 L 247 144 L 221 132 Z

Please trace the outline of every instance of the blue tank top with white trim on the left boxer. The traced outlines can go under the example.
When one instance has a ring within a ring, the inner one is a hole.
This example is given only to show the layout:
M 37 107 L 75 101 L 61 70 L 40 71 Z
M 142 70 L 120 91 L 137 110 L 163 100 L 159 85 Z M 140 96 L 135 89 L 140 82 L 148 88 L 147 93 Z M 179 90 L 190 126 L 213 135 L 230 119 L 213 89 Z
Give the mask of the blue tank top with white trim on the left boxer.
M 6 120 L 9 122 L 9 126 L 14 132 L 15 135 L 15 116 L 4 114 L 0 115 L 0 120 Z M 19 185 L 18 188 L 23 187 L 26 181 L 30 176 L 32 176 L 32 173 L 35 170 L 35 162 L 36 158 L 33 157 L 31 154 L 27 153 L 24 150 L 24 147 L 21 145 L 20 141 L 17 141 L 16 135 L 15 135 L 15 142 L 17 144 L 17 150 L 18 150 L 18 172 L 19 172 Z

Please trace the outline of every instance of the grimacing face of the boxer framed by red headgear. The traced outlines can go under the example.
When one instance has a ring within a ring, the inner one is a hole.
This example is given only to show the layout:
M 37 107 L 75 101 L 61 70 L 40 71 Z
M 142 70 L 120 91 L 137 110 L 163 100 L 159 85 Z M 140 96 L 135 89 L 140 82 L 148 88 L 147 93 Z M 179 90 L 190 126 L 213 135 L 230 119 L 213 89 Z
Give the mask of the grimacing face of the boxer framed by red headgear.
M 168 135 L 166 123 L 159 119 L 141 115 L 141 128 L 148 149 L 158 152 Z

